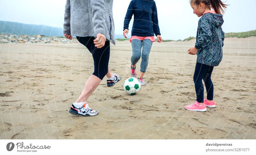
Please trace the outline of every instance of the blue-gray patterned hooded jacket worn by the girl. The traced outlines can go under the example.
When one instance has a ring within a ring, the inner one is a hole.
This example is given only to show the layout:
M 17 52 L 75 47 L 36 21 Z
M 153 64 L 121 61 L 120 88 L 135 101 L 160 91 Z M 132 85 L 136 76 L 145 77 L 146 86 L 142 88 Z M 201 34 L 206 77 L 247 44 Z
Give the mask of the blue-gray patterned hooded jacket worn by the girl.
M 196 62 L 208 65 L 218 66 L 222 59 L 222 47 L 224 41 L 224 32 L 222 15 L 216 13 L 205 13 L 198 21 L 196 34 Z

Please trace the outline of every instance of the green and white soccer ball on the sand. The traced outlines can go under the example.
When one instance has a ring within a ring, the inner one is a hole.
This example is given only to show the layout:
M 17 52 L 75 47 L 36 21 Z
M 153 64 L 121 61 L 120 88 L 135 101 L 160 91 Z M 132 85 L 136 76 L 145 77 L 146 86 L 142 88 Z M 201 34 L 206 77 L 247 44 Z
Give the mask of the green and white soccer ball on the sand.
M 141 84 L 138 79 L 130 77 L 124 81 L 124 91 L 129 95 L 139 93 Z

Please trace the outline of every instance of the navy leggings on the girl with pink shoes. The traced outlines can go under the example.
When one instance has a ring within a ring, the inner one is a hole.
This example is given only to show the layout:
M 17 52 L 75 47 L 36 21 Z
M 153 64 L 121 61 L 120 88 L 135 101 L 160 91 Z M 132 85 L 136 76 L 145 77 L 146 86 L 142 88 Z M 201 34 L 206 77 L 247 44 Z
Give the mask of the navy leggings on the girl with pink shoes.
M 207 91 L 207 100 L 213 100 L 213 84 L 211 80 L 213 66 L 204 65 L 196 62 L 196 69 L 194 73 L 194 83 L 196 88 L 196 101 L 204 102 L 204 80 Z

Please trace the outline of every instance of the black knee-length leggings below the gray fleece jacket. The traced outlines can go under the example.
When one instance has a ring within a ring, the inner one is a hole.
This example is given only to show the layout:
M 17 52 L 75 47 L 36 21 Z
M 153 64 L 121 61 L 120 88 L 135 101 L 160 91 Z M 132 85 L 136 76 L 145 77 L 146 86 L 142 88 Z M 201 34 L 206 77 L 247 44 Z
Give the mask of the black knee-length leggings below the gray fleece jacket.
M 97 76 L 101 80 L 108 73 L 108 61 L 110 54 L 110 43 L 105 42 L 105 46 L 97 48 L 93 44 L 94 37 L 76 37 L 77 40 L 83 44 L 92 53 L 94 61 L 94 72 L 93 75 Z

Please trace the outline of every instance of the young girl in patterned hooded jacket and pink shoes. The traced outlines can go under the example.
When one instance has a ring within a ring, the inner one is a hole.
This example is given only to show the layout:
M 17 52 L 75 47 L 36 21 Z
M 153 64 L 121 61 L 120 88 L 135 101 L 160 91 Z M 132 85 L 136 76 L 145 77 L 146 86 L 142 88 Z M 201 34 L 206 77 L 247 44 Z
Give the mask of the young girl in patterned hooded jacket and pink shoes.
M 194 83 L 196 88 L 196 102 L 185 106 L 192 111 L 206 111 L 206 107 L 214 108 L 213 84 L 211 74 L 214 66 L 218 66 L 222 59 L 224 32 L 222 14 L 227 4 L 221 0 L 190 0 L 190 5 L 198 17 L 196 45 L 188 49 L 188 54 L 197 55 Z M 213 9 L 213 10 L 211 10 Z M 204 80 L 207 98 L 204 99 Z

